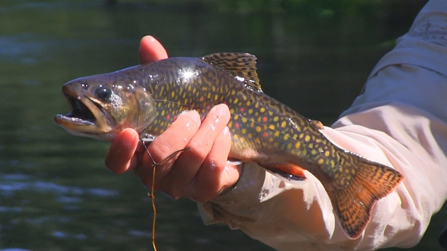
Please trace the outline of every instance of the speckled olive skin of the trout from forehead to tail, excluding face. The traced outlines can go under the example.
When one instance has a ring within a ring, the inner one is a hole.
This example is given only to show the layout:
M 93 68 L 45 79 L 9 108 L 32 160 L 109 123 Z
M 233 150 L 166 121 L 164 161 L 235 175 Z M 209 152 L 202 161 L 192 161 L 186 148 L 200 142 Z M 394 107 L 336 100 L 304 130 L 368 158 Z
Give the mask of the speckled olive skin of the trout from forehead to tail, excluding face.
M 304 180 L 303 169 L 308 170 L 328 192 L 346 235 L 358 238 L 375 201 L 392 192 L 403 176 L 340 149 L 321 134 L 320 123 L 264 94 L 255 59 L 244 53 L 170 58 L 82 81 L 144 87 L 156 115 L 140 132 L 143 137 L 160 135 L 182 111 L 194 109 L 203 119 L 213 106 L 227 104 L 232 135 L 229 158 L 256 162 L 288 180 Z

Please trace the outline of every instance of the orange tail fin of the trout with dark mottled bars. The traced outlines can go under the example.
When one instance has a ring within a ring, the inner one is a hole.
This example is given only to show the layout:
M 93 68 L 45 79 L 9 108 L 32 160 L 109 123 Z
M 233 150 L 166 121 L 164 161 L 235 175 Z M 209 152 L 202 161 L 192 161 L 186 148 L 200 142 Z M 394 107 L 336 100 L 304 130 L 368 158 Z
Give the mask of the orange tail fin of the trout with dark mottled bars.
M 349 238 L 356 239 L 365 230 L 375 202 L 391 193 L 404 176 L 390 167 L 358 155 L 352 154 L 350 157 L 353 161 L 348 163 L 356 167 L 344 169 L 354 168 L 357 174 L 352 182 L 345 188 L 337 188 L 337 184 L 334 184 L 326 190 L 343 230 Z

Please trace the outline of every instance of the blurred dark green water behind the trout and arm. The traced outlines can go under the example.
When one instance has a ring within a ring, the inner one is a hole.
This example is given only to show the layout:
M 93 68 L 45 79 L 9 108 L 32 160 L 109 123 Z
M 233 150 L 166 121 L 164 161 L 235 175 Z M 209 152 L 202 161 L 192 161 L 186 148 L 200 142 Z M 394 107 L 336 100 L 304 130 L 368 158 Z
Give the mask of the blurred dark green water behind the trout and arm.
M 109 144 L 67 134 L 67 81 L 138 64 L 151 34 L 169 56 L 249 52 L 264 92 L 330 125 L 425 0 L 1 0 L 0 249 L 152 250 L 152 205 L 132 174 L 104 166 Z M 187 199 L 156 194 L 157 247 L 271 248 L 204 226 Z M 441 250 L 446 209 L 410 250 Z M 397 249 L 388 249 L 394 251 Z

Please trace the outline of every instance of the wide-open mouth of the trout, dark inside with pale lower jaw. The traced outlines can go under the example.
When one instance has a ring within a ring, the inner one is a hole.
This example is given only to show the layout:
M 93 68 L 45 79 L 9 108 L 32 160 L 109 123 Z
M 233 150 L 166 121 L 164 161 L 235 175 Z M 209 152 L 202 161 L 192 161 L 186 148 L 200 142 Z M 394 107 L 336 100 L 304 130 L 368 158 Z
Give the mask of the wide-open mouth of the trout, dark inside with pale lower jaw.
M 72 134 L 108 133 L 111 130 L 110 120 L 98 100 L 64 94 L 72 107 L 72 112 L 56 115 L 56 123 Z

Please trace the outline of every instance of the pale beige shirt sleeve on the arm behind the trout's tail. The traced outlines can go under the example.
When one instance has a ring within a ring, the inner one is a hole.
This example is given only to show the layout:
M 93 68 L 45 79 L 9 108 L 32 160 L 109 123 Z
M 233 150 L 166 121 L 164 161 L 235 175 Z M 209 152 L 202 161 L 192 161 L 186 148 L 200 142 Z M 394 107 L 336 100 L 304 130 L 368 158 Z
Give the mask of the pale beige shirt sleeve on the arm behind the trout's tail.
M 236 188 L 199 204 L 277 250 L 411 247 L 447 197 L 447 1 L 430 0 L 409 33 L 377 64 L 365 91 L 321 132 L 334 144 L 394 167 L 405 180 L 377 201 L 358 239 L 343 233 L 321 183 L 289 184 L 245 163 Z

